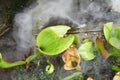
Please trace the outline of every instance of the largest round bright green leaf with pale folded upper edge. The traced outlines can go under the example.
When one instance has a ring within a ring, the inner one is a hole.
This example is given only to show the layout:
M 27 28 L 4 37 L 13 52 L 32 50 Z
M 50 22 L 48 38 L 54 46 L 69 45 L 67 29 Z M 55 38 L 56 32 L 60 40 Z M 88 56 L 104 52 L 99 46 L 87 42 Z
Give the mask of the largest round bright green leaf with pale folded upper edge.
M 69 48 L 74 41 L 74 35 L 63 37 L 68 29 L 70 27 L 59 25 L 42 30 L 36 42 L 40 52 L 46 55 L 57 55 Z

